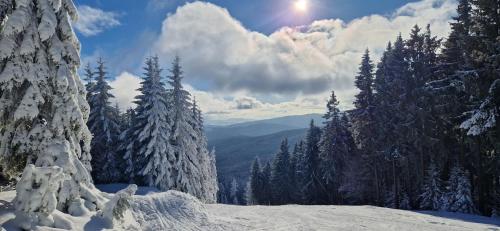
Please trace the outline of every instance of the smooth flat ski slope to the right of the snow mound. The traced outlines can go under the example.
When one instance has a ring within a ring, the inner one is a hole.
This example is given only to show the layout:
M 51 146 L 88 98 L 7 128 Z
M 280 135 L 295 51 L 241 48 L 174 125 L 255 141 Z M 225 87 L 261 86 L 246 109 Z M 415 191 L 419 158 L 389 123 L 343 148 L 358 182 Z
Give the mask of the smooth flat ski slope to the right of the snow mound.
M 228 230 L 500 230 L 500 220 L 454 214 L 425 214 L 373 206 L 206 205 L 209 219 Z

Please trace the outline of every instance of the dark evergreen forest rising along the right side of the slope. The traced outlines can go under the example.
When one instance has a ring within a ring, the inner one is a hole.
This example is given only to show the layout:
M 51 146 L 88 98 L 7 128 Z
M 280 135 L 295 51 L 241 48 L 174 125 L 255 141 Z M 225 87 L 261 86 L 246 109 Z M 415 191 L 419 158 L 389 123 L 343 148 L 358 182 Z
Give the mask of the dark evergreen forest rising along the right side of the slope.
M 251 168 L 250 204 L 372 204 L 497 215 L 500 209 L 498 0 L 461 0 L 451 33 L 415 26 L 374 65 L 367 50 L 355 108 L 332 93 L 271 171 Z M 267 164 L 266 164 L 267 166 Z

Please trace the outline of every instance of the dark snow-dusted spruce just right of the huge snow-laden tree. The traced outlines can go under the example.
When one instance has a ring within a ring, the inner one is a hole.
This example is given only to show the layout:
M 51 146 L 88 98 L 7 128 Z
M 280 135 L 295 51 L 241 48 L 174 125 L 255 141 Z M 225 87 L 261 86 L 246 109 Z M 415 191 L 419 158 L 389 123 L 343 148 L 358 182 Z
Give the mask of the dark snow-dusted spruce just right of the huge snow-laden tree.
M 114 96 L 106 81 L 106 67 L 102 59 L 97 61 L 95 83 L 88 95 L 90 116 L 87 126 L 93 135 L 90 153 L 92 154 L 92 177 L 97 183 L 117 182 L 121 178 L 117 153 L 120 135 L 119 112 L 111 106 Z

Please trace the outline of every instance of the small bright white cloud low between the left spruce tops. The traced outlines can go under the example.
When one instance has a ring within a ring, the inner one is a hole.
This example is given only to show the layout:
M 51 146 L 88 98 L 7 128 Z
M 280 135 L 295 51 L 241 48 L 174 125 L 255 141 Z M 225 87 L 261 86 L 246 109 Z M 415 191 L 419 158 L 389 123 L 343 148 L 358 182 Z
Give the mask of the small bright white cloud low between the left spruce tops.
M 113 103 L 118 103 L 121 109 L 134 108 L 134 97 L 139 94 L 141 79 L 128 72 L 118 75 L 109 85 L 113 88 L 111 94 L 115 96 Z

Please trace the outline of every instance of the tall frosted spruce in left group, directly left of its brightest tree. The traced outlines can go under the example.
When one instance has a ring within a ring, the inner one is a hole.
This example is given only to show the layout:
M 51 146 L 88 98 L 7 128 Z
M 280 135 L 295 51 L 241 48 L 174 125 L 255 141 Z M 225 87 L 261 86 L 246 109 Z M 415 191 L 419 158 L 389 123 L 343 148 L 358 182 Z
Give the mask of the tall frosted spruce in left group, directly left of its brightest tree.
M 169 145 L 170 124 L 157 57 L 146 60 L 140 95 L 136 96 L 136 115 L 122 140 L 125 145 L 129 179 L 160 190 L 174 188 L 176 166 Z

